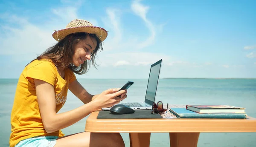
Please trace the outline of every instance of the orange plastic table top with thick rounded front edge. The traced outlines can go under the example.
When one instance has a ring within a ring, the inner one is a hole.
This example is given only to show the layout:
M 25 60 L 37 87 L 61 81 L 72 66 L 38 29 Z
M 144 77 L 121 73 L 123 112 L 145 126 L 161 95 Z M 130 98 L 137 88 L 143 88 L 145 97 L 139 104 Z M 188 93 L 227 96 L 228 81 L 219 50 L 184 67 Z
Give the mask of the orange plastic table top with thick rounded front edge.
M 97 119 L 99 111 L 87 118 L 85 131 L 95 133 L 188 133 L 188 132 L 256 132 L 256 118 L 157 118 Z

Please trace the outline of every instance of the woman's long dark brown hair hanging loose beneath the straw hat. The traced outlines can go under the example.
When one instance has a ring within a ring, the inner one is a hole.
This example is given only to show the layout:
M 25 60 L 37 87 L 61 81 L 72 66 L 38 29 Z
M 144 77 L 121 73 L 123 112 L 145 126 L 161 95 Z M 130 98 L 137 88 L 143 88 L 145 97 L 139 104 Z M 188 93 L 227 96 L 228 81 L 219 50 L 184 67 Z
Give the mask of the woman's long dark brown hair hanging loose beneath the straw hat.
M 91 55 L 91 59 L 89 61 L 85 61 L 80 66 L 75 66 L 73 61 L 73 54 L 74 54 L 74 46 L 79 43 L 80 40 L 84 40 L 87 36 L 94 37 L 97 40 L 97 46 L 94 52 Z M 55 66 L 59 68 L 70 68 L 76 74 L 82 75 L 86 73 L 89 68 L 90 64 L 96 67 L 95 57 L 98 51 L 103 50 L 102 41 L 95 34 L 88 34 L 84 32 L 80 33 L 73 33 L 67 35 L 64 39 L 60 40 L 54 46 L 48 48 L 43 54 L 38 56 L 36 59 L 42 60 L 47 59 L 52 61 Z M 35 60 L 36 60 L 35 59 Z

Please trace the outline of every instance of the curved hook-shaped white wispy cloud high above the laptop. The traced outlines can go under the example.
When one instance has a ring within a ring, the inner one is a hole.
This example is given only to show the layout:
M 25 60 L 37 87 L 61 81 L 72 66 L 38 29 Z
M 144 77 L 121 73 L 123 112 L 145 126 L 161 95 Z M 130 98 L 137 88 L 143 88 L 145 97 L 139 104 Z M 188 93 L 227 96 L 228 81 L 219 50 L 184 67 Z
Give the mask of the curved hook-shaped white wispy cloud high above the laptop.
M 137 46 L 138 49 L 142 49 L 142 48 L 144 48 L 146 46 L 149 46 L 152 43 L 154 43 L 154 38 L 155 38 L 155 35 L 156 35 L 156 31 L 155 31 L 155 28 L 154 28 L 153 24 L 146 17 L 146 14 L 148 13 L 149 7 L 148 6 L 144 6 L 143 4 L 141 4 L 140 1 L 141 0 L 134 0 L 132 2 L 132 4 L 131 4 L 131 10 L 136 15 L 138 15 L 139 17 L 141 17 L 143 19 L 143 21 L 145 22 L 146 26 L 150 30 L 151 35 L 145 41 L 143 41 L 142 43 L 138 44 L 138 46 Z

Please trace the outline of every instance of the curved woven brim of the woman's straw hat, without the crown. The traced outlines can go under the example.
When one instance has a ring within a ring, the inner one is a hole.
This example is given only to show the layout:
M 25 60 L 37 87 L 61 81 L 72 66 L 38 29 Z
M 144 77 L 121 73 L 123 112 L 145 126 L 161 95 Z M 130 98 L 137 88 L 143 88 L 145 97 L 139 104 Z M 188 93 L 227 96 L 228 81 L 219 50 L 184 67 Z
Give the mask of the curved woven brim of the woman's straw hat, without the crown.
M 104 41 L 108 36 L 108 32 L 104 28 L 100 28 L 98 26 L 80 26 L 76 28 L 67 28 L 67 29 L 58 30 L 52 34 L 52 37 L 55 40 L 59 41 L 64 39 L 64 37 L 66 37 L 67 35 L 70 35 L 72 33 L 78 33 L 78 32 L 95 34 L 101 41 Z

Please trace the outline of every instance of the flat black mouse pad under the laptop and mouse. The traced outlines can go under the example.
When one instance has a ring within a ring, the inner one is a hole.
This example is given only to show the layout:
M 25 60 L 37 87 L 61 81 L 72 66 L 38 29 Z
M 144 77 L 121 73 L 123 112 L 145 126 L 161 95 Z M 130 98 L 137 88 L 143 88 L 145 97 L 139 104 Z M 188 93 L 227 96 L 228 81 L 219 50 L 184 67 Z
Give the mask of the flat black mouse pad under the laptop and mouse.
M 98 119 L 132 119 L 132 118 L 162 118 L 160 114 L 151 114 L 151 110 L 135 110 L 131 114 L 111 114 L 110 111 L 100 111 Z

